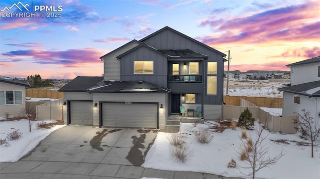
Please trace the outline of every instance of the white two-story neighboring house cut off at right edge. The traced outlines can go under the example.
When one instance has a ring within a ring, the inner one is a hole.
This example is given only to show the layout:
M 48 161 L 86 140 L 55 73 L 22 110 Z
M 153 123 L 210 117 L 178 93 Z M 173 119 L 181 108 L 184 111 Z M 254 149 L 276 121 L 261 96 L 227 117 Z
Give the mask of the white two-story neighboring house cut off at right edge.
M 305 109 L 320 124 L 320 56 L 286 66 L 291 68 L 291 84 L 278 89 L 283 92 L 282 115 L 302 115 Z

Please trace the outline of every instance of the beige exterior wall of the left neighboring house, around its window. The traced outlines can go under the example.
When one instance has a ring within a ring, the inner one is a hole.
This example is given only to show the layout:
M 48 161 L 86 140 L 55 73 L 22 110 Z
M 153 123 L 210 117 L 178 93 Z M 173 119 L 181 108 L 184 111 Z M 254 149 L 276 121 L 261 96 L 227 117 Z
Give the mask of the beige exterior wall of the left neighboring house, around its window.
M 22 91 L 22 104 L 0 105 L 0 116 L 4 117 L 4 113 L 9 113 L 11 117 L 17 116 L 17 112 L 25 108 L 25 87 L 0 82 L 0 91 Z

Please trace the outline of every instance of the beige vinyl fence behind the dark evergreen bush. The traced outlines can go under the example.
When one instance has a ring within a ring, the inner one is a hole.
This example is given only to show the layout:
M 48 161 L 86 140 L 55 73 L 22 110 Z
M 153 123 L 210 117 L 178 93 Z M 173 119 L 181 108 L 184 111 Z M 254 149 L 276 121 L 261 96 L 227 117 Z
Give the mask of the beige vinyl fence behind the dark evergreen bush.
M 270 132 L 296 133 L 297 125 L 294 125 L 293 121 L 297 120 L 298 116 L 273 116 L 244 99 L 240 99 L 240 104 L 241 106 L 224 105 L 223 117 L 238 119 L 241 112 L 248 108 L 252 117 L 258 119 Z

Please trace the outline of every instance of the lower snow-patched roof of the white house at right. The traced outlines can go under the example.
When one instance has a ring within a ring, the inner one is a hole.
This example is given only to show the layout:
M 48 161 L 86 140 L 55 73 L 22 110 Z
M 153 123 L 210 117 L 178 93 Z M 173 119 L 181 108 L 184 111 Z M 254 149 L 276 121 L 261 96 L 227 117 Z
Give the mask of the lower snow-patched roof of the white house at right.
M 278 88 L 279 91 L 300 94 L 310 97 L 320 97 L 320 80 L 313 81 L 283 88 Z

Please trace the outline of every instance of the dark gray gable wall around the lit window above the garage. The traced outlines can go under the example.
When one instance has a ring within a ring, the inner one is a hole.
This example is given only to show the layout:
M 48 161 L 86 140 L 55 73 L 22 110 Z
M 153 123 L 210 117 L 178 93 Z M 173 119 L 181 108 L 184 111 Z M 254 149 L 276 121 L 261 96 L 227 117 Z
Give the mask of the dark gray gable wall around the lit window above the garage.
M 146 81 L 166 88 L 167 58 L 141 46 L 120 59 L 121 81 Z M 134 61 L 153 61 L 153 74 L 134 74 Z

